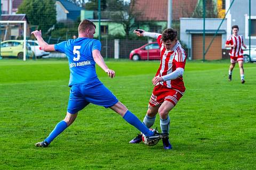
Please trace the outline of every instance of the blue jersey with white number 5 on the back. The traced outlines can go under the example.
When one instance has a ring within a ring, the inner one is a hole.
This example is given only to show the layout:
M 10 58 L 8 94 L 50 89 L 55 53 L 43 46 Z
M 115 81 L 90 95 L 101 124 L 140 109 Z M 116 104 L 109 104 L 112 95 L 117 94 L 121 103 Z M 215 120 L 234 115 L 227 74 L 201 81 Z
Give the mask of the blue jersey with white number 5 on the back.
M 92 51 L 101 49 L 99 40 L 77 38 L 55 44 L 56 51 L 65 53 L 68 57 L 70 79 L 68 86 L 86 83 L 91 86 L 101 84 L 95 71 L 95 61 Z

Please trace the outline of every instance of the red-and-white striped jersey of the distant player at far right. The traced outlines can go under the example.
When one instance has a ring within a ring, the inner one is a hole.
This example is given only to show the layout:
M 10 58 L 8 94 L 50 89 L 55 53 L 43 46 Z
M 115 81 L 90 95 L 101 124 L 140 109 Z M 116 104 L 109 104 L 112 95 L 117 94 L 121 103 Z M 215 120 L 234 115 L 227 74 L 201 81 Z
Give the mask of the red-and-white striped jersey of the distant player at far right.
M 244 39 L 243 36 L 238 35 L 238 36 L 234 36 L 231 35 L 228 37 L 226 44 L 227 45 L 236 45 L 235 47 L 231 47 L 231 50 L 229 52 L 229 55 L 232 57 L 238 57 L 238 56 L 242 56 L 243 55 L 243 49 L 242 49 L 242 45 L 244 43 Z

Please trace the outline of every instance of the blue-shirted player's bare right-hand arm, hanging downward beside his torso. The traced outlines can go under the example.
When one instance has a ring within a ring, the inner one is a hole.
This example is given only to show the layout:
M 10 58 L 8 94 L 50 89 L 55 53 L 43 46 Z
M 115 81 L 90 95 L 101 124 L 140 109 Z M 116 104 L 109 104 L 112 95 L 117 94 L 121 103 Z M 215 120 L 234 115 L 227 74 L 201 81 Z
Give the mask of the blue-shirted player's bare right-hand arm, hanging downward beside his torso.
M 116 74 L 115 71 L 108 69 L 108 66 L 106 65 L 105 61 L 103 60 L 103 57 L 101 56 L 100 51 L 98 49 L 94 49 L 92 51 L 92 56 L 93 56 L 95 63 L 97 63 L 101 67 L 101 69 L 104 70 L 108 74 L 108 77 L 110 77 L 110 78 L 115 77 L 115 74 Z

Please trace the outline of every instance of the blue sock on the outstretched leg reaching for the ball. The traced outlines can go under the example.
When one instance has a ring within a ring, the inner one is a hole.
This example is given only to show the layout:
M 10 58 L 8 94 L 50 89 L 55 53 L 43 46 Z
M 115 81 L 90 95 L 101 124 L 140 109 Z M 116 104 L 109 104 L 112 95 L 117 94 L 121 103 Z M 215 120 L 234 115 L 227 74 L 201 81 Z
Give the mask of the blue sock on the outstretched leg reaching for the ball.
M 137 128 L 139 131 L 141 131 L 142 133 L 144 133 L 146 136 L 151 136 L 154 134 L 154 132 L 150 131 L 145 124 L 141 123 L 139 118 L 136 117 L 133 113 L 131 113 L 130 111 L 127 111 L 124 114 L 124 120 L 128 123 L 130 123 L 131 125 L 133 125 L 135 128 Z

